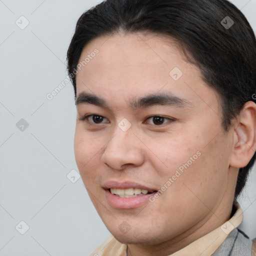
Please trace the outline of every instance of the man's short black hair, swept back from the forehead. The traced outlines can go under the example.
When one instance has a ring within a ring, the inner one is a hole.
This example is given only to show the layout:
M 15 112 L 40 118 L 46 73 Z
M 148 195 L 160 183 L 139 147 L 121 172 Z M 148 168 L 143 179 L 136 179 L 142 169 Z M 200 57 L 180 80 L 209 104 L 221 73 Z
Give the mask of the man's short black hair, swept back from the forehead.
M 75 97 L 73 70 L 83 47 L 96 37 L 119 31 L 157 33 L 179 42 L 187 60 L 200 68 L 202 79 L 218 93 L 224 131 L 246 101 L 256 103 L 252 96 L 256 92 L 255 35 L 245 16 L 227 0 L 104 0 L 85 11 L 67 50 Z M 235 199 L 254 161 L 255 153 L 239 169 Z

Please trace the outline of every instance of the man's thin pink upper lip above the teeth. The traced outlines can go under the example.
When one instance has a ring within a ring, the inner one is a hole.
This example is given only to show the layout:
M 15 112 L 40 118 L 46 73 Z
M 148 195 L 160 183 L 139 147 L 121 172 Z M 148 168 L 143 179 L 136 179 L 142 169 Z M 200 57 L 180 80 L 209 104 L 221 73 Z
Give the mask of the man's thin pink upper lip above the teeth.
M 116 180 L 109 180 L 106 181 L 103 186 L 104 189 L 109 189 L 109 188 L 119 188 L 119 189 L 127 189 L 127 188 L 140 188 L 140 189 L 145 189 L 147 191 L 157 191 L 157 188 L 154 187 L 148 187 L 143 184 L 139 184 L 137 182 L 133 181 L 116 181 Z

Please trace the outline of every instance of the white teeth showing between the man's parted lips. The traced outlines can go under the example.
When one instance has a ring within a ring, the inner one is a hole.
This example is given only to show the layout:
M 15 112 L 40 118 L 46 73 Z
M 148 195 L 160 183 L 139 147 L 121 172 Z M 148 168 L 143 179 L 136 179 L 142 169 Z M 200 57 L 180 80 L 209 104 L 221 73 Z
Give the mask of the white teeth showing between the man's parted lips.
M 134 188 L 134 187 L 130 187 L 130 188 L 126 188 L 126 189 L 111 187 L 111 188 L 108 188 L 108 191 L 111 194 L 114 194 L 114 195 L 116 195 L 118 197 L 122 197 L 122 198 L 137 197 L 137 196 L 142 196 L 145 194 L 151 194 L 153 192 L 156 192 L 156 190 L 148 191 L 146 189 Z

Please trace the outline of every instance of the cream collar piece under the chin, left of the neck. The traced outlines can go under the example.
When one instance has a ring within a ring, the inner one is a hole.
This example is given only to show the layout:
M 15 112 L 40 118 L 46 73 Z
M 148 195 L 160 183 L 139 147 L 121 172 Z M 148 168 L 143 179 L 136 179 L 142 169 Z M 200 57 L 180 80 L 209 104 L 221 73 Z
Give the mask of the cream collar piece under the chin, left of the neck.
M 113 235 L 109 236 L 89 256 L 126 256 L 127 245 L 118 242 Z

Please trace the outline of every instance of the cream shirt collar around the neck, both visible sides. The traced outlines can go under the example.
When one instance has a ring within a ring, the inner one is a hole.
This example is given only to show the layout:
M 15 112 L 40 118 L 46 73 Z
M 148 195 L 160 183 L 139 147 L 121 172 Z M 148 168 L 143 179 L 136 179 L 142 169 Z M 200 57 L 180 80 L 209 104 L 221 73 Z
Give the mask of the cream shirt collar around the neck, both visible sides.
M 212 255 L 223 243 L 229 233 L 231 233 L 231 231 L 242 222 L 243 212 L 240 204 L 235 200 L 233 206 L 235 207 L 235 212 L 229 220 L 169 256 Z M 113 235 L 111 235 L 98 248 L 96 248 L 90 256 L 127 256 L 126 250 L 127 245 L 120 243 Z

